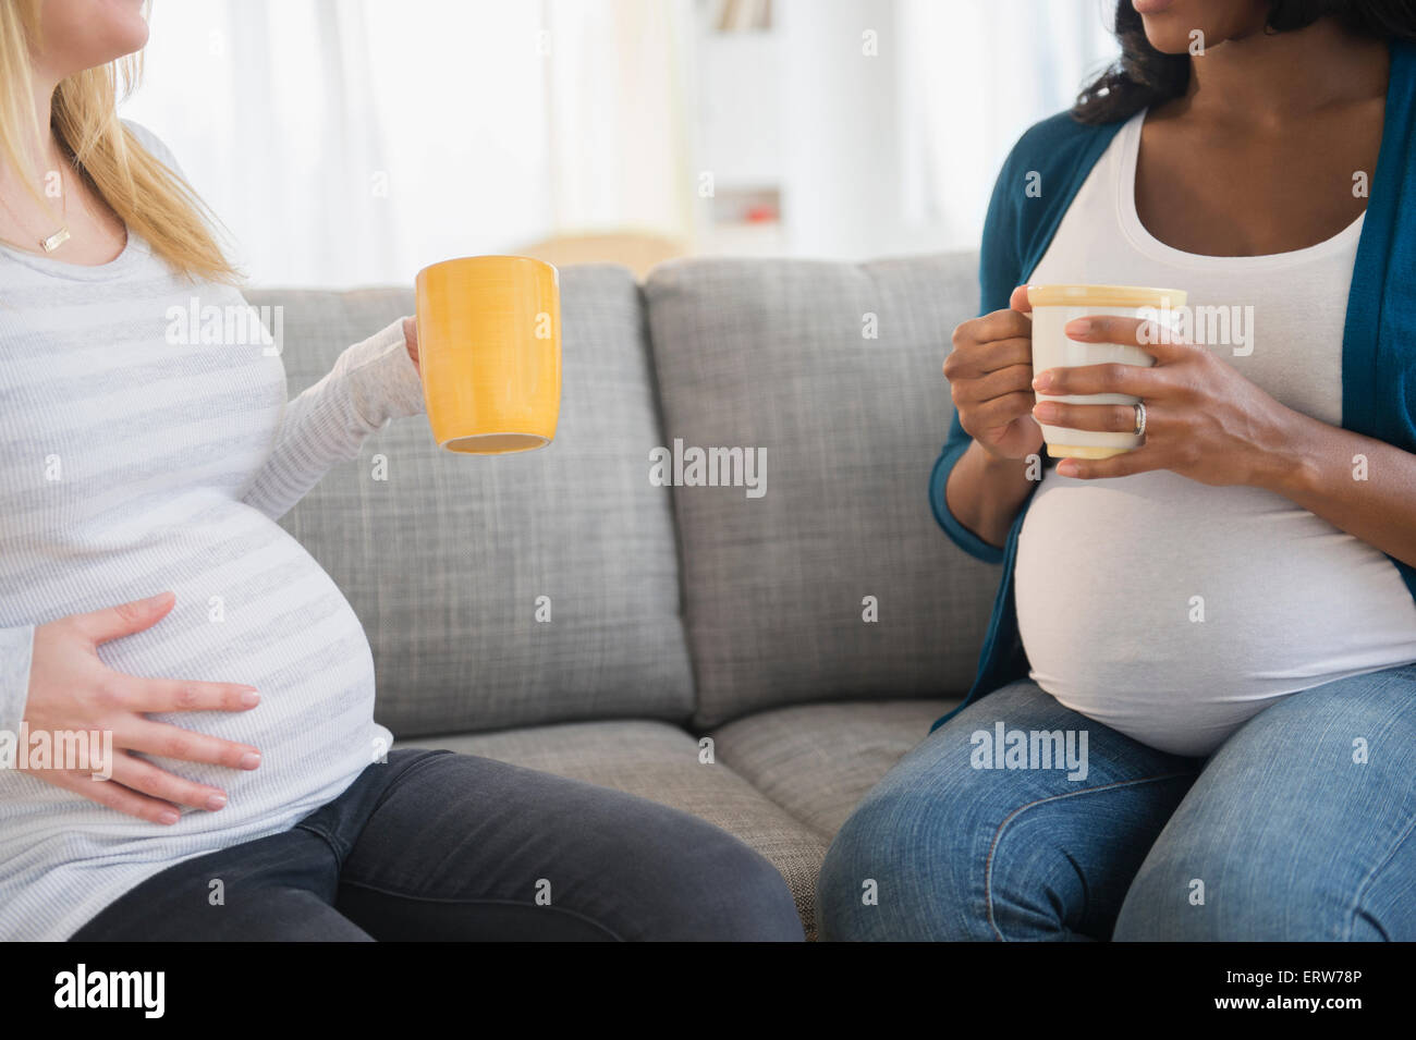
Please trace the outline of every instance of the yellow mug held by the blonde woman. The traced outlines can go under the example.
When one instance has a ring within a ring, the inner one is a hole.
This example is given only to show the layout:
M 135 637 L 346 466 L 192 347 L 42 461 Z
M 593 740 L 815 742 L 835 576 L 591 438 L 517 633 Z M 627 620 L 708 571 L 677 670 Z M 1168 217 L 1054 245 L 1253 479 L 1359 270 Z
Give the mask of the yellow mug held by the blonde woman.
M 433 440 L 500 456 L 545 447 L 561 415 L 561 284 L 530 256 L 418 272 L 418 364 Z

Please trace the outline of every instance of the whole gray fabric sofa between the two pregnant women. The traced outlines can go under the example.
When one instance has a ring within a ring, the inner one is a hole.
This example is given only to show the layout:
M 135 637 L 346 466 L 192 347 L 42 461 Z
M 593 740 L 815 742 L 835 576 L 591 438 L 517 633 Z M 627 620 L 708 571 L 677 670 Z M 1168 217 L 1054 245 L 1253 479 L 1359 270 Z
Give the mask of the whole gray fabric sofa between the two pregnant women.
M 976 258 L 675 260 L 643 286 L 589 265 L 561 293 L 554 444 L 456 456 L 399 420 L 282 524 L 358 611 L 399 743 L 709 819 L 811 934 L 826 848 L 969 688 L 997 586 L 926 499 Z M 292 393 L 413 310 L 404 289 L 248 299 L 285 307 Z M 656 485 L 675 440 L 758 450 L 765 494 Z

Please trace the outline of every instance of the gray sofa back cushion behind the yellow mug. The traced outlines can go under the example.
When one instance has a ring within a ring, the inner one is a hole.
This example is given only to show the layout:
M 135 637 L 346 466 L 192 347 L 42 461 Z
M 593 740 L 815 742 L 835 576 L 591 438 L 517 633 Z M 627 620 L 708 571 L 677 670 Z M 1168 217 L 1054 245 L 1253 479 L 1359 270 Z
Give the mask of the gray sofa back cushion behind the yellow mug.
M 413 310 L 411 290 L 248 299 L 285 307 L 292 395 Z M 575 267 L 561 304 L 549 447 L 459 456 L 423 416 L 396 420 L 282 521 L 364 623 L 377 715 L 398 737 L 692 710 L 671 504 L 647 478 L 663 434 L 639 287 L 620 267 Z M 387 481 L 372 478 L 375 454 Z

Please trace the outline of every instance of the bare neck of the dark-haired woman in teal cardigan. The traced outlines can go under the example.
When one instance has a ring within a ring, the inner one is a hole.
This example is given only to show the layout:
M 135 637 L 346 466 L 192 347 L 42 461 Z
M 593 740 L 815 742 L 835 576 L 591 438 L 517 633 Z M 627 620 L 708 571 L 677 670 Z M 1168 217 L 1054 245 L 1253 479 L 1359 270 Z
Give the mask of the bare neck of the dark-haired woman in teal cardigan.
M 1256 30 L 1191 57 L 1184 108 L 1232 123 L 1287 123 L 1327 105 L 1386 93 L 1385 40 L 1332 18 L 1286 33 Z

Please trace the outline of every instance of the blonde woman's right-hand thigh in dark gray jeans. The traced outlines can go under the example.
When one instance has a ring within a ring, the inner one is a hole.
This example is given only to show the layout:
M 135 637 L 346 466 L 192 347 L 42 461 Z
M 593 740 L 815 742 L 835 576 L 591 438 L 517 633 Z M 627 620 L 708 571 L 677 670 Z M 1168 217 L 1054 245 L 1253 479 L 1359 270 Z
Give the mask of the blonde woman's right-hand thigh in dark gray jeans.
M 378 940 L 796 940 L 759 853 L 687 812 L 548 773 L 433 754 L 392 785 L 340 869 Z

